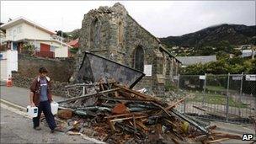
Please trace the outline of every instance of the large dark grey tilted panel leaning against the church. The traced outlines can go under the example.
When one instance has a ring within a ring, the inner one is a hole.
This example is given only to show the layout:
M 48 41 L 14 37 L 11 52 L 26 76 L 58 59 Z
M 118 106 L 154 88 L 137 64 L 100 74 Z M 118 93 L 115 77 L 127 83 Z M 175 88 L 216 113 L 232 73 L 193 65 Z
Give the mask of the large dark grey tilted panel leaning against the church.
M 110 61 L 102 56 L 85 52 L 75 83 L 99 82 L 101 78 L 115 79 L 116 82 L 134 87 L 145 74 L 131 67 Z

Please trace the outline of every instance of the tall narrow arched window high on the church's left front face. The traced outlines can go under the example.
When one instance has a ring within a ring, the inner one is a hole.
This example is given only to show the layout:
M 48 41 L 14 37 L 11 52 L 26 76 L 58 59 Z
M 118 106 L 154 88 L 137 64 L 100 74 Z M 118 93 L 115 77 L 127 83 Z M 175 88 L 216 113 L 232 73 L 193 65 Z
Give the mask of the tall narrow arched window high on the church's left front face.
M 91 48 L 97 48 L 100 40 L 100 28 L 101 24 L 99 19 L 93 19 L 90 26 L 90 46 Z

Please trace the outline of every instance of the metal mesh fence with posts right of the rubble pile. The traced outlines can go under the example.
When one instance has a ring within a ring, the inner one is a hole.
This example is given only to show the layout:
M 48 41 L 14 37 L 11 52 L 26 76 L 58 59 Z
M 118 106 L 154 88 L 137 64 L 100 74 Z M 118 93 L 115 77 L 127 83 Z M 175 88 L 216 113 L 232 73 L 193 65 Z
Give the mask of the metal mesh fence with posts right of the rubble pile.
M 179 75 L 178 95 L 186 97 L 179 110 L 204 119 L 251 123 L 256 118 L 256 75 Z

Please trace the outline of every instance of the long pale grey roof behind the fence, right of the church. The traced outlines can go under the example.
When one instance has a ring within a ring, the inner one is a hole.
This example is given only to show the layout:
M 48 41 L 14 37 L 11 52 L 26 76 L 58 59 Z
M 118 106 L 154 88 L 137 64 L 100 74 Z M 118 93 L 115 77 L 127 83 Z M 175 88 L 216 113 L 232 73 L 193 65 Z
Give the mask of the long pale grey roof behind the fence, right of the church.
M 194 65 L 198 63 L 208 63 L 211 61 L 217 61 L 216 56 L 176 56 L 176 58 L 181 61 L 185 66 Z

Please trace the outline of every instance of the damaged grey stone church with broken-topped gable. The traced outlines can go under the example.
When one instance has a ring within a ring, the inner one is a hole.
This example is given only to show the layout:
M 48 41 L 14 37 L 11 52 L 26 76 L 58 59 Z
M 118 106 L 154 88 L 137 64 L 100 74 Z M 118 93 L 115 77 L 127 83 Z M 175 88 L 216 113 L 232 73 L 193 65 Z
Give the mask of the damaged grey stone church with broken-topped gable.
M 75 72 L 83 61 L 83 52 L 90 51 L 144 72 L 146 76 L 135 89 L 147 88 L 155 95 L 163 95 L 164 85 L 173 82 L 173 76 L 178 75 L 179 61 L 120 3 L 85 14 L 79 44 Z

